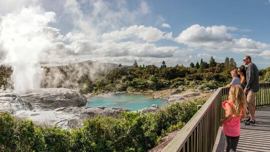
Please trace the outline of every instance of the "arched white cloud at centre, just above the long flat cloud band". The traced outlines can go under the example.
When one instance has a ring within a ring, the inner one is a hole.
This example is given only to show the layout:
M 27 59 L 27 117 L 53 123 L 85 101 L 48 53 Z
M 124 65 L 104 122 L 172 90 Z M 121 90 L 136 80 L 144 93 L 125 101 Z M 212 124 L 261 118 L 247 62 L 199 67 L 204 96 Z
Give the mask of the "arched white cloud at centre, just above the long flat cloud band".
M 147 42 L 158 41 L 160 39 L 172 39 L 172 33 L 162 32 L 152 26 L 144 27 L 144 25 L 133 25 L 121 30 L 103 33 L 102 39 L 126 39 L 132 36 L 143 39 Z

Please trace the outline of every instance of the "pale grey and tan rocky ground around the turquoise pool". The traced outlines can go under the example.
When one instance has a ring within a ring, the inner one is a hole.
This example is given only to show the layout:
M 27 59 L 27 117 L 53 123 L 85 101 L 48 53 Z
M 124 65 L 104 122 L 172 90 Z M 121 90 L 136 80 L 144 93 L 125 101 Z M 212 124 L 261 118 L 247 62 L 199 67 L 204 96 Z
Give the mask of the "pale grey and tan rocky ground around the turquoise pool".
M 192 98 L 206 97 L 211 92 L 199 93 L 194 90 L 167 89 L 140 92 L 140 94 L 151 94 L 153 98 L 165 99 L 172 104 Z M 84 107 L 86 102 L 85 95 L 64 88 L 39 89 L 20 95 L 13 92 L 0 92 L 0 112 L 7 111 L 19 119 L 31 119 L 37 126 L 76 129 L 82 127 L 84 119 L 92 119 L 96 116 L 118 118 L 119 113 L 130 111 L 125 108 Z M 140 113 L 154 112 L 158 108 L 156 105 L 152 105 L 141 109 Z

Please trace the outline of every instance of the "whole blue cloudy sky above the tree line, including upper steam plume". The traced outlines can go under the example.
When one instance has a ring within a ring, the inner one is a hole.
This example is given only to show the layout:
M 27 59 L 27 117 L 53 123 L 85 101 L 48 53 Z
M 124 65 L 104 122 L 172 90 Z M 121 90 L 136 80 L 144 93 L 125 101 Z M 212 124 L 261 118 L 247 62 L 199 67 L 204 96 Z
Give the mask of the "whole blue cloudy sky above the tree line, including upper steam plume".
M 38 74 L 38 63 L 240 66 L 249 55 L 261 69 L 269 24 L 270 0 L 0 0 L 0 63 Z

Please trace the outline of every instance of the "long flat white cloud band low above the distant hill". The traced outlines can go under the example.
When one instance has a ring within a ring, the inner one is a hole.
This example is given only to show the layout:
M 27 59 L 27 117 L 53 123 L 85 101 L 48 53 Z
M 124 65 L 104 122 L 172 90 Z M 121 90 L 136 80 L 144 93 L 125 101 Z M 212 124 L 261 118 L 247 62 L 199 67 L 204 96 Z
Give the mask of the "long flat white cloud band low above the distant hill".
M 112 40 L 101 43 L 91 40 L 78 40 L 69 45 L 55 43 L 52 48 L 48 49 L 61 55 L 99 55 L 99 56 L 138 56 L 138 57 L 172 57 L 179 51 L 176 46 L 156 47 L 151 43 L 120 42 Z

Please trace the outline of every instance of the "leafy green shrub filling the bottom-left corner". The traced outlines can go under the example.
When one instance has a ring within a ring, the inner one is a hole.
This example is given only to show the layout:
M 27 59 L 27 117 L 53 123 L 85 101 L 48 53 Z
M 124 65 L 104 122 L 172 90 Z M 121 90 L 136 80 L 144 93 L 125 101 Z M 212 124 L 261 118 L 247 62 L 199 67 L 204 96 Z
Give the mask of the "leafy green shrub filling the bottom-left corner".
M 29 152 L 45 150 L 43 135 L 32 121 L 14 121 L 9 114 L 0 114 L 0 148 L 4 152 Z

